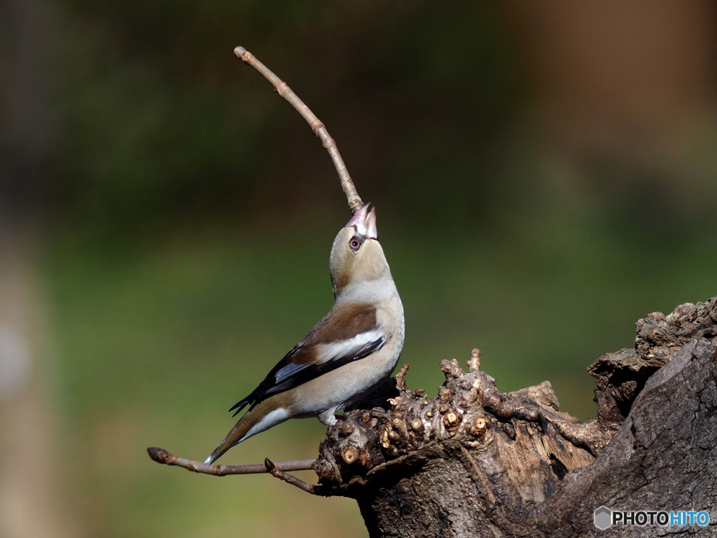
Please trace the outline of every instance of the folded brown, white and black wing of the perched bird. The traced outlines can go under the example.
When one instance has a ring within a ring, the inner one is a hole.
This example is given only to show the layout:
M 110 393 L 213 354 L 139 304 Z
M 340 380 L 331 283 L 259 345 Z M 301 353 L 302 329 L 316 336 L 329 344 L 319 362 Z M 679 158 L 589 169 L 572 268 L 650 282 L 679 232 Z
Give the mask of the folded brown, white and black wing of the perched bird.
M 336 305 L 310 333 L 285 355 L 251 395 L 237 402 L 237 413 L 278 392 L 292 389 L 321 374 L 368 357 L 386 342 L 369 304 Z M 236 415 L 237 413 L 234 413 Z

